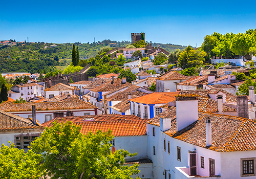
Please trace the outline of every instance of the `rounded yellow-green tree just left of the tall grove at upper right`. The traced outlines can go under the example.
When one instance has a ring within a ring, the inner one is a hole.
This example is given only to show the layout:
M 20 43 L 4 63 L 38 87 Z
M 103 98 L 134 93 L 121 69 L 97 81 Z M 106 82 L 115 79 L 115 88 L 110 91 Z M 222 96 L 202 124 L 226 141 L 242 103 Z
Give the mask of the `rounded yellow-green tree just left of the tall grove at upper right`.
M 196 67 L 197 65 L 203 64 L 205 60 L 204 56 L 206 56 L 206 52 L 202 51 L 200 48 L 194 50 L 191 46 L 188 46 L 179 55 L 178 65 L 182 69 Z

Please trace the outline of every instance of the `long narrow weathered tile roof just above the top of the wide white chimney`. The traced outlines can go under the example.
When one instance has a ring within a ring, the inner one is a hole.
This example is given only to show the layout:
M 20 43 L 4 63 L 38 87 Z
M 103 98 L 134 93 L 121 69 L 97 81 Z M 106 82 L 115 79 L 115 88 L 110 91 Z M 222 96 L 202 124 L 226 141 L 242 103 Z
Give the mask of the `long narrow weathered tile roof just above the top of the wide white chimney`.
M 196 94 L 200 97 L 208 97 L 210 98 L 209 94 L 217 94 L 222 92 L 226 95 L 226 103 L 236 103 L 237 102 L 237 95 L 229 93 L 224 89 L 195 89 L 195 90 L 182 90 L 180 94 Z

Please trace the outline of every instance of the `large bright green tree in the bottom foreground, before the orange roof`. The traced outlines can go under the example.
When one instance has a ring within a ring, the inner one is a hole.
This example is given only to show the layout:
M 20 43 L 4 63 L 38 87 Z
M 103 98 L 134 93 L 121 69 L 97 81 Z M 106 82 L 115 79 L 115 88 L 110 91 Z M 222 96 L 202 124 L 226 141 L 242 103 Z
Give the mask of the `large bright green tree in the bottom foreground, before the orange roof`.
M 44 163 L 41 171 L 56 178 L 131 178 L 137 174 L 138 165 L 123 166 L 126 156 L 134 156 L 125 150 L 111 151 L 111 131 L 87 135 L 80 133 L 81 126 L 54 122 L 45 128 L 31 147 L 41 154 Z

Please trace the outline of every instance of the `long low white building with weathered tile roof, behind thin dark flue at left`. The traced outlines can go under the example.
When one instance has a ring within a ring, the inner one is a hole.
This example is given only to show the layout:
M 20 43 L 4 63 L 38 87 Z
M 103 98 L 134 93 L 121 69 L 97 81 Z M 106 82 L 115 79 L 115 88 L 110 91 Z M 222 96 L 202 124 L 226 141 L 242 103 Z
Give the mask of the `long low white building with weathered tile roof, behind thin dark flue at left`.
M 96 106 L 74 97 L 60 102 L 12 103 L 6 101 L 0 105 L 0 110 L 23 118 L 31 118 L 32 105 L 36 106 L 36 119 L 39 123 L 44 123 L 59 116 L 97 115 Z

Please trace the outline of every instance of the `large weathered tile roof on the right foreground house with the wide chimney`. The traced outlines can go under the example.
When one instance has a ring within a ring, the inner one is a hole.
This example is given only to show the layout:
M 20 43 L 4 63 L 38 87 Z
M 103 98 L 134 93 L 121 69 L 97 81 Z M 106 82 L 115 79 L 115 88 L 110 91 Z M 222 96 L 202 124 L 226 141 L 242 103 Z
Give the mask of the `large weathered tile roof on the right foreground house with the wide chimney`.
M 256 123 L 241 117 L 199 111 L 199 120 L 177 132 L 176 108 L 170 107 L 148 123 L 160 126 L 159 117 L 172 120 L 170 137 L 218 152 L 256 150 Z M 205 120 L 211 119 L 212 145 L 206 147 Z

